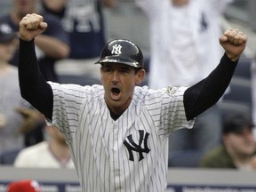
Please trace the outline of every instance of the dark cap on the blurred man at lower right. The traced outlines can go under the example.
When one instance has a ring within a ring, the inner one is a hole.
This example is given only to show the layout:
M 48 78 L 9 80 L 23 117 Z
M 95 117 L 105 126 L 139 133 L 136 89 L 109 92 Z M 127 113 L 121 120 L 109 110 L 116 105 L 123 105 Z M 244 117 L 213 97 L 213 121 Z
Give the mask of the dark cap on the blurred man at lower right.
M 242 113 L 228 114 L 224 118 L 223 133 L 236 132 L 241 133 L 245 128 L 252 129 L 254 124 L 250 115 Z

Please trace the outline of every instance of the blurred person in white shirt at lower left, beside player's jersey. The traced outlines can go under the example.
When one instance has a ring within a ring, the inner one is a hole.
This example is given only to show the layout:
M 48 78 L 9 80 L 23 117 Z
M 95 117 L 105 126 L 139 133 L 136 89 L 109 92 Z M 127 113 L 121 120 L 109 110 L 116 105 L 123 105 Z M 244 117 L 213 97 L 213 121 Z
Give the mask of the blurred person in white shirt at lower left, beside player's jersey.
M 14 161 L 16 167 L 74 168 L 68 145 L 54 126 L 45 127 L 46 140 L 20 151 Z

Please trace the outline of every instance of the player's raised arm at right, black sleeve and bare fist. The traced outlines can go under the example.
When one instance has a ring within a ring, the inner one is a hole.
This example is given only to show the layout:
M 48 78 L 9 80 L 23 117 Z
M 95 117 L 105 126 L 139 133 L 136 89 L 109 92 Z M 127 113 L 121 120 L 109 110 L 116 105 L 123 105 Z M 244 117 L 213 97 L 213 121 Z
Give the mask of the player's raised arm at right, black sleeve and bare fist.
M 223 36 L 220 36 L 220 44 L 225 50 L 220 64 L 209 76 L 189 87 L 184 93 L 184 106 L 188 120 L 203 113 L 220 100 L 228 88 L 246 42 L 247 36 L 237 29 L 229 28 Z

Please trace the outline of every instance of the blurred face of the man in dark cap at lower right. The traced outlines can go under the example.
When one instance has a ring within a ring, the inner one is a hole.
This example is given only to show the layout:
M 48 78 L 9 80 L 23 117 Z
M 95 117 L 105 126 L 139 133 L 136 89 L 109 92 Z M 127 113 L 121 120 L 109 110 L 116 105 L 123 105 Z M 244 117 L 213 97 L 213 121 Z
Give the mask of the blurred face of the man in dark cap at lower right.
M 241 133 L 229 132 L 223 139 L 226 146 L 238 156 L 251 156 L 256 149 L 251 128 L 244 128 Z

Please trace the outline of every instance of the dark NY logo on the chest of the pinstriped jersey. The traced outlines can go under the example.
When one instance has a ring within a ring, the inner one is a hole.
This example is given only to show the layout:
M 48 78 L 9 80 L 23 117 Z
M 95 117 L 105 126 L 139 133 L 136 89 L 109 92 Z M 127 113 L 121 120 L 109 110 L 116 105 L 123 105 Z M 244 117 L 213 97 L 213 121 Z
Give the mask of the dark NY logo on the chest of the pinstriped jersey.
M 124 140 L 124 146 L 128 150 L 128 153 L 129 153 L 129 156 L 130 156 L 129 157 L 130 161 L 134 161 L 134 156 L 133 156 L 132 151 L 139 154 L 139 156 L 140 156 L 139 161 L 141 161 L 144 158 L 143 153 L 148 154 L 149 151 L 150 151 L 150 149 L 148 148 L 149 133 L 145 132 L 144 130 L 139 130 L 139 135 L 140 135 L 140 138 L 139 138 L 139 143 L 138 144 L 136 144 L 134 142 L 134 140 L 132 139 L 132 134 L 128 135 L 127 139 Z M 142 144 L 143 144 L 144 148 L 142 148 Z

